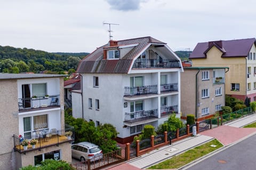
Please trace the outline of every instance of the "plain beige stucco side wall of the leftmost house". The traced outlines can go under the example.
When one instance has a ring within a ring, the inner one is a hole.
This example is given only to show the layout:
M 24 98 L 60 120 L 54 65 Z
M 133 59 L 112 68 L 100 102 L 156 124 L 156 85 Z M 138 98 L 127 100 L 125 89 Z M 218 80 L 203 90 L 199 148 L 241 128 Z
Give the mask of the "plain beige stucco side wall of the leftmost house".
M 13 152 L 13 134 L 18 134 L 18 93 L 17 80 L 0 80 L 0 167 L 11 169 L 15 161 Z

